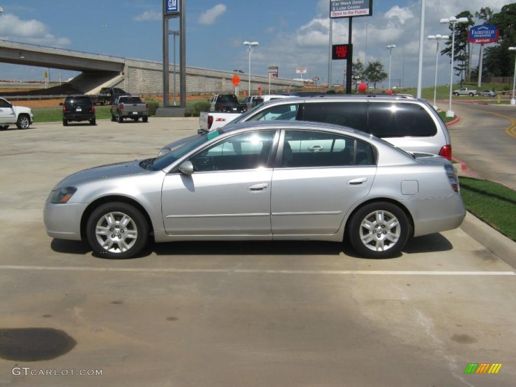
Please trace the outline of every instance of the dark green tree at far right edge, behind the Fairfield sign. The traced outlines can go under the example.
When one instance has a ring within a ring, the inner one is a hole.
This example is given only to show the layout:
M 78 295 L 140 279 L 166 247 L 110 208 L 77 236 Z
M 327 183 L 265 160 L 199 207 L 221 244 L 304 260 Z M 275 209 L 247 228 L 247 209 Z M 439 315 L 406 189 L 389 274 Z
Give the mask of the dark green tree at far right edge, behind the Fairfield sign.
M 502 10 L 493 14 L 489 21 L 500 30 L 499 41 L 488 47 L 484 55 L 484 66 L 491 76 L 510 76 L 514 71 L 514 51 L 516 46 L 516 3 L 507 4 Z

